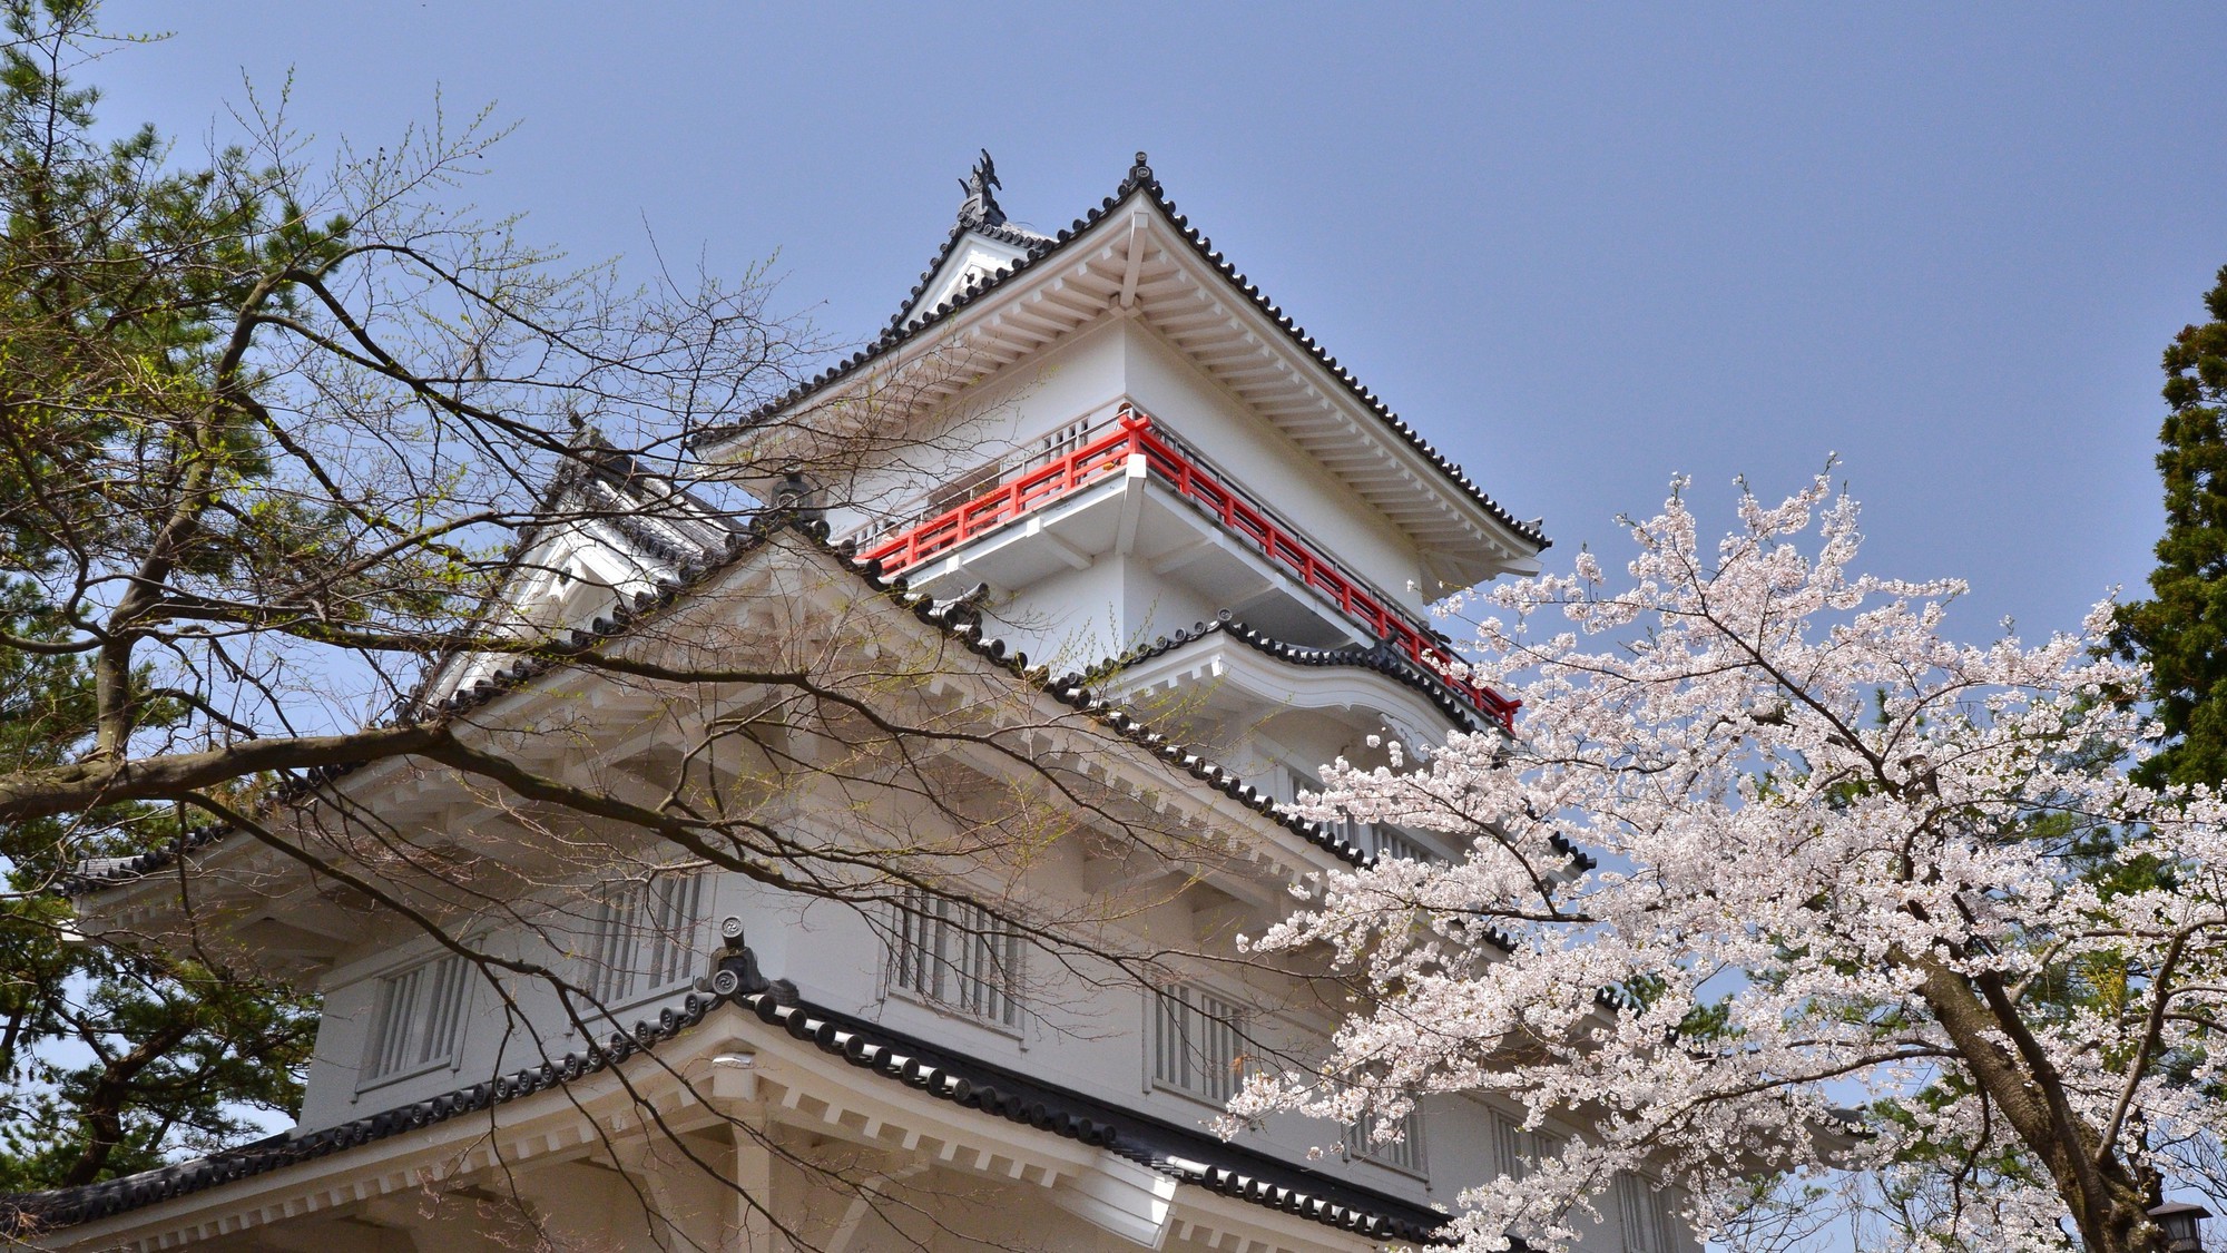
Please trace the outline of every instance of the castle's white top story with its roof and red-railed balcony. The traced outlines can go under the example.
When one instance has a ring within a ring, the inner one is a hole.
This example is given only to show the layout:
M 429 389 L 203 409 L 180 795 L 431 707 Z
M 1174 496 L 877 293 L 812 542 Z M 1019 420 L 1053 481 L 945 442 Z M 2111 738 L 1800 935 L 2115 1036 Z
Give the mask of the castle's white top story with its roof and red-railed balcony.
M 1430 604 L 1532 573 L 1548 540 L 1439 455 L 1167 201 L 1138 154 L 1058 234 L 1011 223 L 984 154 L 906 305 L 862 352 L 699 446 L 935 595 L 975 595 L 1053 669 L 1236 620 L 1445 676 Z M 1410 676 L 1414 678 L 1414 676 Z

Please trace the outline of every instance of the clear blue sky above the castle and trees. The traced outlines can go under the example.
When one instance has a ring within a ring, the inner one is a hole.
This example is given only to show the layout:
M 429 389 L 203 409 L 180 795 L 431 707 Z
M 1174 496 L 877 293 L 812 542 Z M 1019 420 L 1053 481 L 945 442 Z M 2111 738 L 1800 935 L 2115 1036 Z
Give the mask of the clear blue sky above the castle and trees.
M 1842 455 L 1866 566 L 1960 633 L 2073 626 L 2160 526 L 2158 352 L 2227 263 L 2227 9 L 116 2 L 109 120 L 243 74 L 390 140 L 492 103 L 472 187 L 577 256 L 737 272 L 871 337 L 973 152 L 1058 227 L 1134 149 L 1232 261 L 1566 560 L 1695 475 Z

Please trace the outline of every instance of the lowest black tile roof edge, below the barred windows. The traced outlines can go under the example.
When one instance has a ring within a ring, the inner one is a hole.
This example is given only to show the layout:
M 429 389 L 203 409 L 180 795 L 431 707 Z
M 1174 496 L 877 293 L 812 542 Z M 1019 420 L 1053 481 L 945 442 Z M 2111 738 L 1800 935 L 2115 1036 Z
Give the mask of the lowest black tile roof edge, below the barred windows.
M 1140 1115 L 987 1061 L 964 1059 L 900 1030 L 804 1003 L 786 983 L 766 983 L 748 952 L 728 954 L 704 990 L 688 992 L 655 1019 L 637 1021 L 632 1030 L 612 1032 L 604 1043 L 323 1130 L 281 1133 L 122 1179 L 0 1197 L 0 1224 L 13 1235 L 76 1226 L 490 1110 L 648 1052 L 702 1023 L 724 1003 L 755 1012 L 759 1021 L 782 1028 L 793 1039 L 893 1084 L 1065 1139 L 1102 1146 L 1243 1202 L 1374 1240 L 1432 1244 L 1436 1228 L 1445 1224 L 1445 1215 L 1434 1211 L 1227 1144 L 1198 1128 Z

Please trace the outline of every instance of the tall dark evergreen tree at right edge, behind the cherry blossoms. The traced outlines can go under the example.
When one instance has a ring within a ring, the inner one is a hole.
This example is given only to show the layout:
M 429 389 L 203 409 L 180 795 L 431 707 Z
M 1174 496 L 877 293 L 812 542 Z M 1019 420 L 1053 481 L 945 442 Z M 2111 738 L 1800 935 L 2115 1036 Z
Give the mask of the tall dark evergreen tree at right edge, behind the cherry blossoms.
M 2227 780 L 2227 265 L 2205 294 L 2211 321 L 2165 348 L 2158 439 L 2165 537 L 2151 600 L 2120 611 L 2120 653 L 2149 662 L 2151 700 L 2174 742 L 2145 783 Z

